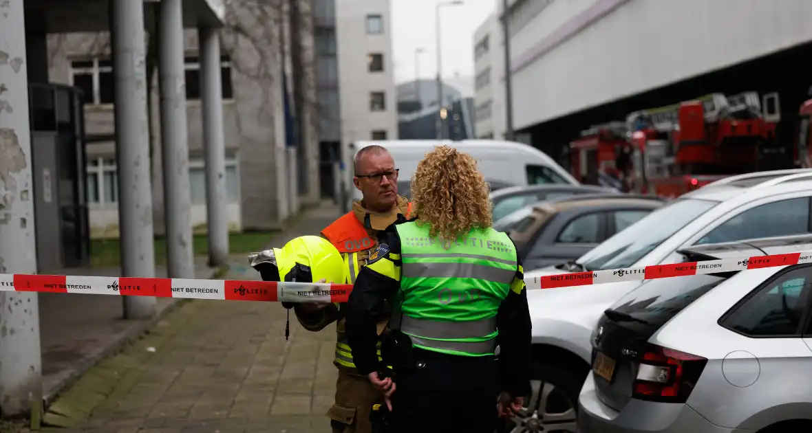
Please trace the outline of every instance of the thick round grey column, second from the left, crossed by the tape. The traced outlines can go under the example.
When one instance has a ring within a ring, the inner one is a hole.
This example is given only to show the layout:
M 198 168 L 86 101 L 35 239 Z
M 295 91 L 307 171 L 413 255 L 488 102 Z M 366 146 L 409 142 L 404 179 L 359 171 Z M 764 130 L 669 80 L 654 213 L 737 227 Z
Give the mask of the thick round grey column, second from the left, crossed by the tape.
M 149 179 L 144 3 L 110 0 L 115 81 L 115 155 L 119 172 L 122 277 L 155 277 Z M 124 296 L 124 319 L 155 313 L 155 298 Z

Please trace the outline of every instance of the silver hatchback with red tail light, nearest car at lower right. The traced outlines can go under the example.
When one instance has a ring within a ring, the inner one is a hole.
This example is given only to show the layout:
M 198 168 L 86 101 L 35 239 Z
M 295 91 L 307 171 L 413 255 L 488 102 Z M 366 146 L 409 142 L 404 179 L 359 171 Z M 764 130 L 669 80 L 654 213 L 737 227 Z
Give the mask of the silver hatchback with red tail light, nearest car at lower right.
M 694 261 L 800 251 L 812 251 L 812 236 L 680 253 Z M 812 431 L 810 313 L 812 264 L 639 285 L 592 333 L 578 431 Z

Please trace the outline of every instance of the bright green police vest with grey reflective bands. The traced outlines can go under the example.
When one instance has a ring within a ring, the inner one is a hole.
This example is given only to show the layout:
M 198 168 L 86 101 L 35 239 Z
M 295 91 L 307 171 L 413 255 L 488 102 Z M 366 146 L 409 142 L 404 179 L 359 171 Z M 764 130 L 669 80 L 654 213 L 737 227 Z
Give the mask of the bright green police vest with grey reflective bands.
M 513 242 L 495 229 L 456 241 L 431 238 L 429 225 L 395 226 L 400 237 L 400 330 L 422 349 L 494 354 L 496 314 L 518 266 Z

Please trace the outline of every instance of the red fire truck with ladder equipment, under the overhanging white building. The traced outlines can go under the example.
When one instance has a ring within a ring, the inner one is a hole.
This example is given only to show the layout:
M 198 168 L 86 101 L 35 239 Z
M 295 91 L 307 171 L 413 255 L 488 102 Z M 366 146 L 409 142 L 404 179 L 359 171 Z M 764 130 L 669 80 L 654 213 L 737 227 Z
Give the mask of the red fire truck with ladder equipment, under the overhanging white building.
M 636 111 L 573 140 L 572 174 L 603 185 L 618 178 L 622 191 L 676 197 L 732 174 L 787 168 L 787 149 L 775 140 L 778 106 L 777 93 L 762 100 L 756 92 L 714 93 Z

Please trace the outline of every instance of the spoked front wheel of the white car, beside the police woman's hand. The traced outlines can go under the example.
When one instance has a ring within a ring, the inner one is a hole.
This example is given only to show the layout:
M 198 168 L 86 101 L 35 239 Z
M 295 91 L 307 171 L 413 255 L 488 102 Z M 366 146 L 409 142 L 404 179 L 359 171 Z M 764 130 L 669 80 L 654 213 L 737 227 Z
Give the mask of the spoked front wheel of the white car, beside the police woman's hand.
M 531 395 L 525 407 L 505 426 L 510 433 L 575 433 L 577 401 L 584 378 L 572 371 L 534 362 L 530 371 Z

